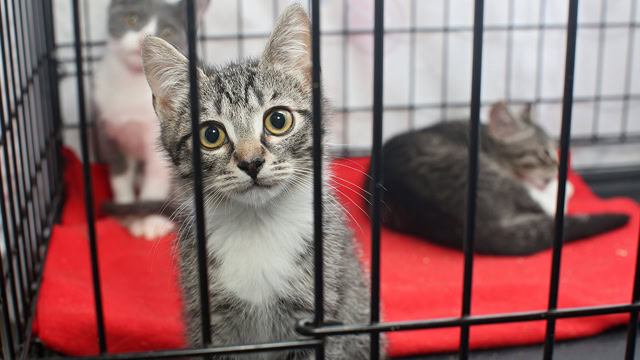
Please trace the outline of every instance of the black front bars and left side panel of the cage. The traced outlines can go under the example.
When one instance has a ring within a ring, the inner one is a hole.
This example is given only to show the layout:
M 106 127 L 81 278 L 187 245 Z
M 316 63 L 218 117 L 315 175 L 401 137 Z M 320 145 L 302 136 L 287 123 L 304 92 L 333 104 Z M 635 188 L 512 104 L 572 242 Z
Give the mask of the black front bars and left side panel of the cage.
M 84 74 L 83 42 L 80 24 L 80 0 L 71 0 L 73 4 L 74 43 L 56 45 L 53 26 L 53 9 L 51 1 L 23 2 L 22 0 L 3 0 L 4 12 L 0 14 L 0 48 L 4 61 L 2 64 L 5 97 L 2 99 L 0 112 L 0 145 L 5 171 L 13 170 L 14 177 L 9 177 L 5 189 L 0 186 L 0 215 L 3 224 L 4 242 L 7 256 L 0 256 L 0 299 L 2 324 L 2 351 L 4 358 L 28 358 L 36 339 L 32 338 L 31 329 L 35 315 L 39 284 L 46 257 L 46 248 L 51 227 L 57 221 L 62 207 L 62 158 L 59 150 L 62 147 L 62 123 L 58 94 L 58 63 L 56 49 L 60 46 L 72 46 L 75 52 L 77 74 Z M 11 1 L 11 2 L 10 2 Z M 107 353 L 105 323 L 103 319 L 102 294 L 94 227 L 93 199 L 91 189 L 91 173 L 89 170 L 89 148 L 87 129 L 90 126 L 86 118 L 84 81 L 77 76 L 79 128 L 81 134 L 81 155 L 83 164 L 83 181 L 87 209 L 88 237 L 90 243 L 91 270 L 94 287 L 94 300 L 97 317 L 97 340 L 100 355 L 80 357 L 84 359 L 169 359 L 184 356 L 208 358 L 217 354 L 239 354 L 260 351 L 280 351 L 293 349 L 313 349 L 317 359 L 324 358 L 325 339 L 330 336 L 347 334 L 369 334 L 371 337 L 371 359 L 379 359 L 379 335 L 383 332 L 459 327 L 460 359 L 468 359 L 469 329 L 474 325 L 499 324 L 522 321 L 546 321 L 546 336 L 543 359 L 553 358 L 555 345 L 555 322 L 557 319 L 596 316 L 605 314 L 630 314 L 627 330 L 625 359 L 631 360 L 635 355 L 638 313 L 640 311 L 640 251 L 637 254 L 633 294 L 629 303 L 605 304 L 590 307 L 561 308 L 557 306 L 559 276 L 562 254 L 562 235 L 564 223 L 564 203 L 566 180 L 568 173 L 568 152 L 571 140 L 572 105 L 579 101 L 573 94 L 573 78 L 576 59 L 576 41 L 578 29 L 578 0 L 569 0 L 567 20 L 567 45 L 565 58 L 564 91 L 562 96 L 562 130 L 560 135 L 559 189 L 557 194 L 556 216 L 554 221 L 555 240 L 552 252 L 552 265 L 547 310 L 517 313 L 498 313 L 491 315 L 471 315 L 472 279 L 473 279 L 473 245 L 476 217 L 476 192 L 478 180 L 478 149 L 481 101 L 481 70 L 483 54 L 483 34 L 492 27 L 484 26 L 484 0 L 474 0 L 473 14 L 473 61 L 471 86 L 471 127 L 469 144 L 468 189 L 464 239 L 464 277 L 461 315 L 458 317 L 416 319 L 411 321 L 384 322 L 380 319 L 380 204 L 382 201 L 382 130 L 383 112 L 388 107 L 383 105 L 383 46 L 384 35 L 390 30 L 384 29 L 384 0 L 375 0 L 374 18 L 374 85 L 373 85 L 373 147 L 372 147 L 372 261 L 371 261 L 371 298 L 370 322 L 367 324 L 344 325 L 325 322 L 323 313 L 323 255 L 315 251 L 315 314 L 311 319 L 301 319 L 296 325 L 297 331 L 309 336 L 308 340 L 296 340 L 269 344 L 248 344 L 238 346 L 212 347 L 210 336 L 210 312 L 208 304 L 205 218 L 202 195 L 202 168 L 200 164 L 200 148 L 193 147 L 194 166 L 194 201 L 196 209 L 196 231 L 198 239 L 198 268 L 200 272 L 200 302 L 203 346 L 198 349 L 164 350 L 141 353 L 111 354 Z M 603 1 L 605 4 L 606 1 Z M 320 1 L 311 1 L 312 20 L 312 91 L 313 91 L 313 159 L 314 159 L 314 246 L 322 249 L 322 148 L 321 148 L 321 78 L 320 78 Z M 415 6 L 415 0 L 412 0 Z M 541 1 L 544 6 L 545 0 Z M 10 6 L 9 6 L 10 5 Z M 636 0 L 632 0 L 635 10 Z M 606 11 L 606 5 L 603 5 Z M 632 11 L 635 13 L 635 11 Z M 11 13 L 11 17 L 9 16 Z M 414 12 L 415 13 L 415 12 Z M 195 0 L 187 0 L 187 39 L 189 54 L 196 54 L 197 35 L 195 26 Z M 10 22 L 13 20 L 13 28 Z M 31 21 L 30 21 L 31 20 Z M 35 21 L 34 21 L 35 20 Z M 415 19 L 412 20 L 415 23 Z M 633 28 L 638 24 L 631 24 Z M 514 26 L 513 24 L 509 26 Z M 624 24 L 622 26 L 629 26 Z M 537 28 L 538 26 L 536 26 Z M 563 29 L 564 29 L 563 25 Z M 20 30 L 20 31 L 18 31 Z M 425 30 L 428 31 L 428 28 Z M 393 32 L 393 30 L 391 30 Z M 413 32 L 415 34 L 415 31 Z M 632 31 L 633 33 L 633 31 Z M 26 37 L 25 37 L 26 35 Z M 244 37 L 251 35 L 243 35 Z M 415 37 L 412 38 L 415 41 Z M 541 40 L 543 41 L 543 40 Z M 633 39 L 629 40 L 633 43 Z M 15 48 L 11 46 L 15 44 Z M 631 45 L 630 45 L 631 47 Z M 632 48 L 631 48 L 632 49 Z M 16 51 L 16 55 L 12 54 Z M 629 51 L 633 53 L 633 50 Z M 631 66 L 632 54 L 628 55 L 628 66 Z M 15 60 L 15 61 L 14 61 Z M 64 61 L 64 60 L 63 60 Z M 189 56 L 191 124 L 193 129 L 199 124 L 198 82 L 196 76 L 196 57 Z M 598 64 L 601 64 L 601 59 Z M 411 65 L 414 66 L 414 65 Z M 600 66 L 600 65 L 598 65 Z M 12 74 L 9 76 L 9 74 Z M 601 84 L 601 81 L 598 81 Z M 55 86 L 52 86 L 55 85 Z M 413 86 L 410 84 L 410 87 Z M 628 117 L 628 103 L 633 99 L 630 94 L 630 80 L 625 83 L 627 92 L 621 95 L 626 102 L 624 115 Z M 601 100 L 606 100 L 600 96 Z M 640 98 L 640 95 L 638 96 Z M 545 99 L 538 98 L 539 102 Z M 512 101 L 514 102 L 514 101 Z M 517 100 L 515 100 L 517 103 Z M 28 105 L 28 107 L 27 107 Z M 442 104 L 439 104 L 442 106 Z M 596 105 L 594 105 L 596 106 Z M 40 107 L 46 117 L 41 126 L 34 123 L 38 115 L 33 113 Z M 7 116 L 8 115 L 8 116 Z M 597 126 L 597 125 L 595 125 Z M 194 144 L 197 143 L 197 130 L 192 131 Z M 16 137 L 20 144 L 16 145 Z M 635 141 L 635 136 L 626 137 L 625 141 Z M 23 140 L 24 144 L 22 143 Z M 601 140 L 601 139 L 596 139 Z M 640 136 L 638 136 L 640 140 Z M 585 142 L 594 139 L 585 139 Z M 10 145 L 9 145 L 10 144 Z M 20 146 L 17 149 L 17 146 Z M 17 150 L 16 150 L 17 149 Z M 17 156 L 20 156 L 18 158 Z M 38 156 L 36 159 L 35 156 Z M 16 176 L 21 173 L 23 176 Z M 24 176 L 28 174 L 28 176 Z M 7 191 L 5 191 L 7 190 Z M 8 202 L 8 205 L 5 203 Z M 24 203 L 24 204 L 23 204 Z M 13 241 L 13 242 L 12 242 Z M 640 242 L 640 239 L 639 239 Z M 7 291 L 7 289 L 11 291 Z M 10 292 L 11 294 L 7 294 Z M 10 319 L 16 319 L 12 326 Z M 61 356 L 43 356 L 47 359 L 62 359 Z

